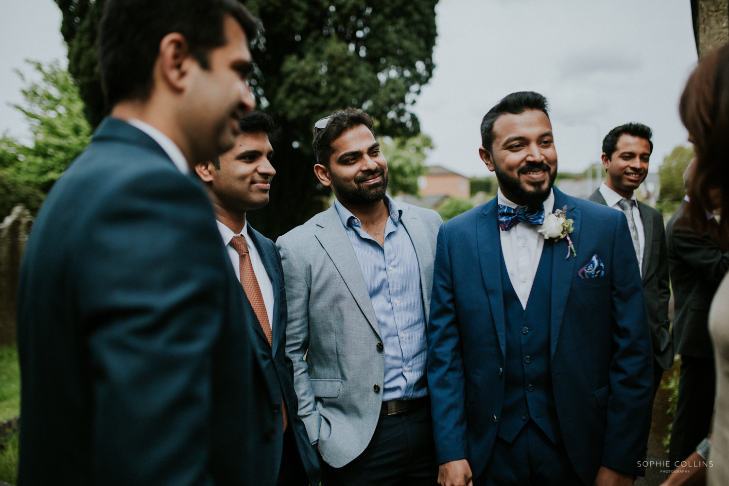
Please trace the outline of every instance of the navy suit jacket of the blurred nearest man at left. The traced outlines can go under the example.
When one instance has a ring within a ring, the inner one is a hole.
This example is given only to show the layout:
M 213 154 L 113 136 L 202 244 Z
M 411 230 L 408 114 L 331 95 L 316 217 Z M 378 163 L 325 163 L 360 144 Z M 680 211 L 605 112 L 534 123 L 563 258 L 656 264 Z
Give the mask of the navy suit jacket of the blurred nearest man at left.
M 20 273 L 18 484 L 273 484 L 255 315 L 206 193 L 152 138 L 101 123 Z

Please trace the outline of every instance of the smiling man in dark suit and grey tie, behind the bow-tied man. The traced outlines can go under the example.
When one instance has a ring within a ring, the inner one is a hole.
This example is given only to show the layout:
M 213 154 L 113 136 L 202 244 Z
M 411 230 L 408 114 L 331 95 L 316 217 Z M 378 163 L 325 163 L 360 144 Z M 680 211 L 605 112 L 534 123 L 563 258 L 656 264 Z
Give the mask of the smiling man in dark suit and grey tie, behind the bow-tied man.
M 635 189 L 648 175 L 653 142 L 650 128 L 640 123 L 620 125 L 602 141 L 602 165 L 607 177 L 590 196 L 595 203 L 623 211 L 628 218 L 636 258 L 641 270 L 653 345 L 653 396 L 663 370 L 674 364 L 674 342 L 668 326 L 668 253 L 663 214 L 640 202 Z

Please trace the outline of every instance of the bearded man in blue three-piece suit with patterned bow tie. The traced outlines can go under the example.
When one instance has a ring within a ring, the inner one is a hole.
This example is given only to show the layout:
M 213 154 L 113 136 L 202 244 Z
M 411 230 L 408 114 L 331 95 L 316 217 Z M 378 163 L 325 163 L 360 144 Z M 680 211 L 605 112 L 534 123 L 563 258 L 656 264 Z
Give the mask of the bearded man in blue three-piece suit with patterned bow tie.
M 439 482 L 632 485 L 644 471 L 653 357 L 625 216 L 553 187 L 542 95 L 508 95 L 481 134 L 498 194 L 440 227 L 435 259 Z

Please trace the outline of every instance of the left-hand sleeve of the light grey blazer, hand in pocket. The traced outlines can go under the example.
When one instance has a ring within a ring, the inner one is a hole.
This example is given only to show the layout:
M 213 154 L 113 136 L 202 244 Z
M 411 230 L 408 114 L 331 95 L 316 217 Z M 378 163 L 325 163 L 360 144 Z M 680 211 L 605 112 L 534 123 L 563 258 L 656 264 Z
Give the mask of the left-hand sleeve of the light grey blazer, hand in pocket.
M 281 254 L 286 282 L 286 356 L 291 359 L 294 367 L 294 390 L 299 401 L 299 417 L 303 420 L 306 433 L 313 444 L 319 441 L 321 416 L 316 408 L 305 359 L 309 347 L 309 285 L 286 238 L 278 238 L 276 246 Z

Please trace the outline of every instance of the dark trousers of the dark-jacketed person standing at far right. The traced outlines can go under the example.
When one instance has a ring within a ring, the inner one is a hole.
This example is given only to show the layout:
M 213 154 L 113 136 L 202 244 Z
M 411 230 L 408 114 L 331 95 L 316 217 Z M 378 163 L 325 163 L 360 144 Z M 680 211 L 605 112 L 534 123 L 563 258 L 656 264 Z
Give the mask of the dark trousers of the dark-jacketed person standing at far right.
M 679 399 L 668 446 L 671 465 L 691 455 L 698 443 L 709 435 L 716 379 L 713 359 L 681 356 Z

